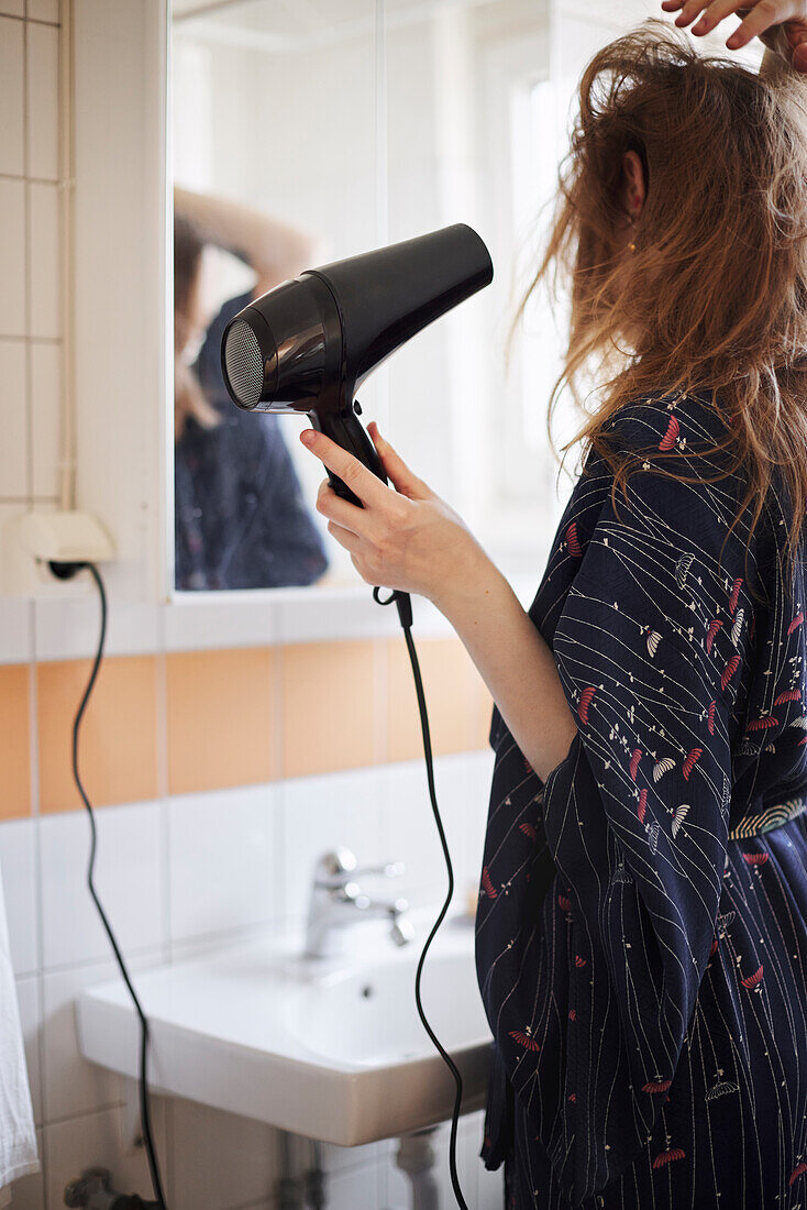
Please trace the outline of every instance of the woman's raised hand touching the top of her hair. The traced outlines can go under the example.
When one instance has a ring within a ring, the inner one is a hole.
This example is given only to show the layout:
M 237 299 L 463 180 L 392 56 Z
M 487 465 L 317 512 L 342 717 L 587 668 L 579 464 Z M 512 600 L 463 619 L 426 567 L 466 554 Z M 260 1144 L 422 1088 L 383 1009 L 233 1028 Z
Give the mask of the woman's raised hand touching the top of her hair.
M 675 24 L 690 25 L 692 33 L 709 34 L 726 17 L 743 21 L 727 39 L 726 46 L 739 50 L 759 38 L 779 53 L 797 71 L 807 71 L 807 0 L 662 0 L 665 12 L 679 12 Z

